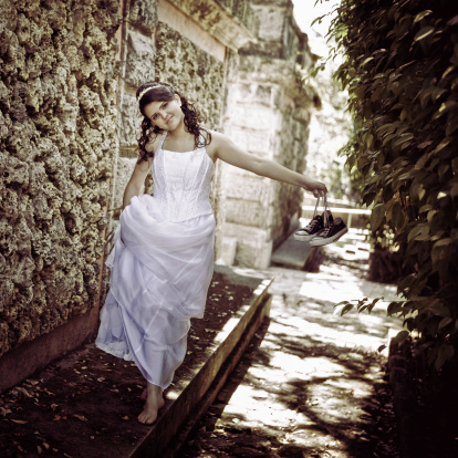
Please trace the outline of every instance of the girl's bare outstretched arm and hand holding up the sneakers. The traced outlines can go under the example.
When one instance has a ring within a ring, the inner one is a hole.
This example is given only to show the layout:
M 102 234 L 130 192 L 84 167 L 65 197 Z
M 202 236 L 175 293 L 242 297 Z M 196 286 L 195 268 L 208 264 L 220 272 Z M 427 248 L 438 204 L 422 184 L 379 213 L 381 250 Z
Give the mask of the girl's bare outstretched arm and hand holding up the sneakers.
M 210 150 L 215 158 L 236 167 L 252 171 L 262 177 L 275 179 L 278 181 L 295 185 L 311 191 L 318 197 L 319 192 L 327 192 L 323 183 L 308 178 L 302 174 L 290 170 L 287 167 L 263 157 L 258 157 L 239 148 L 229 137 L 223 134 L 212 132 Z

